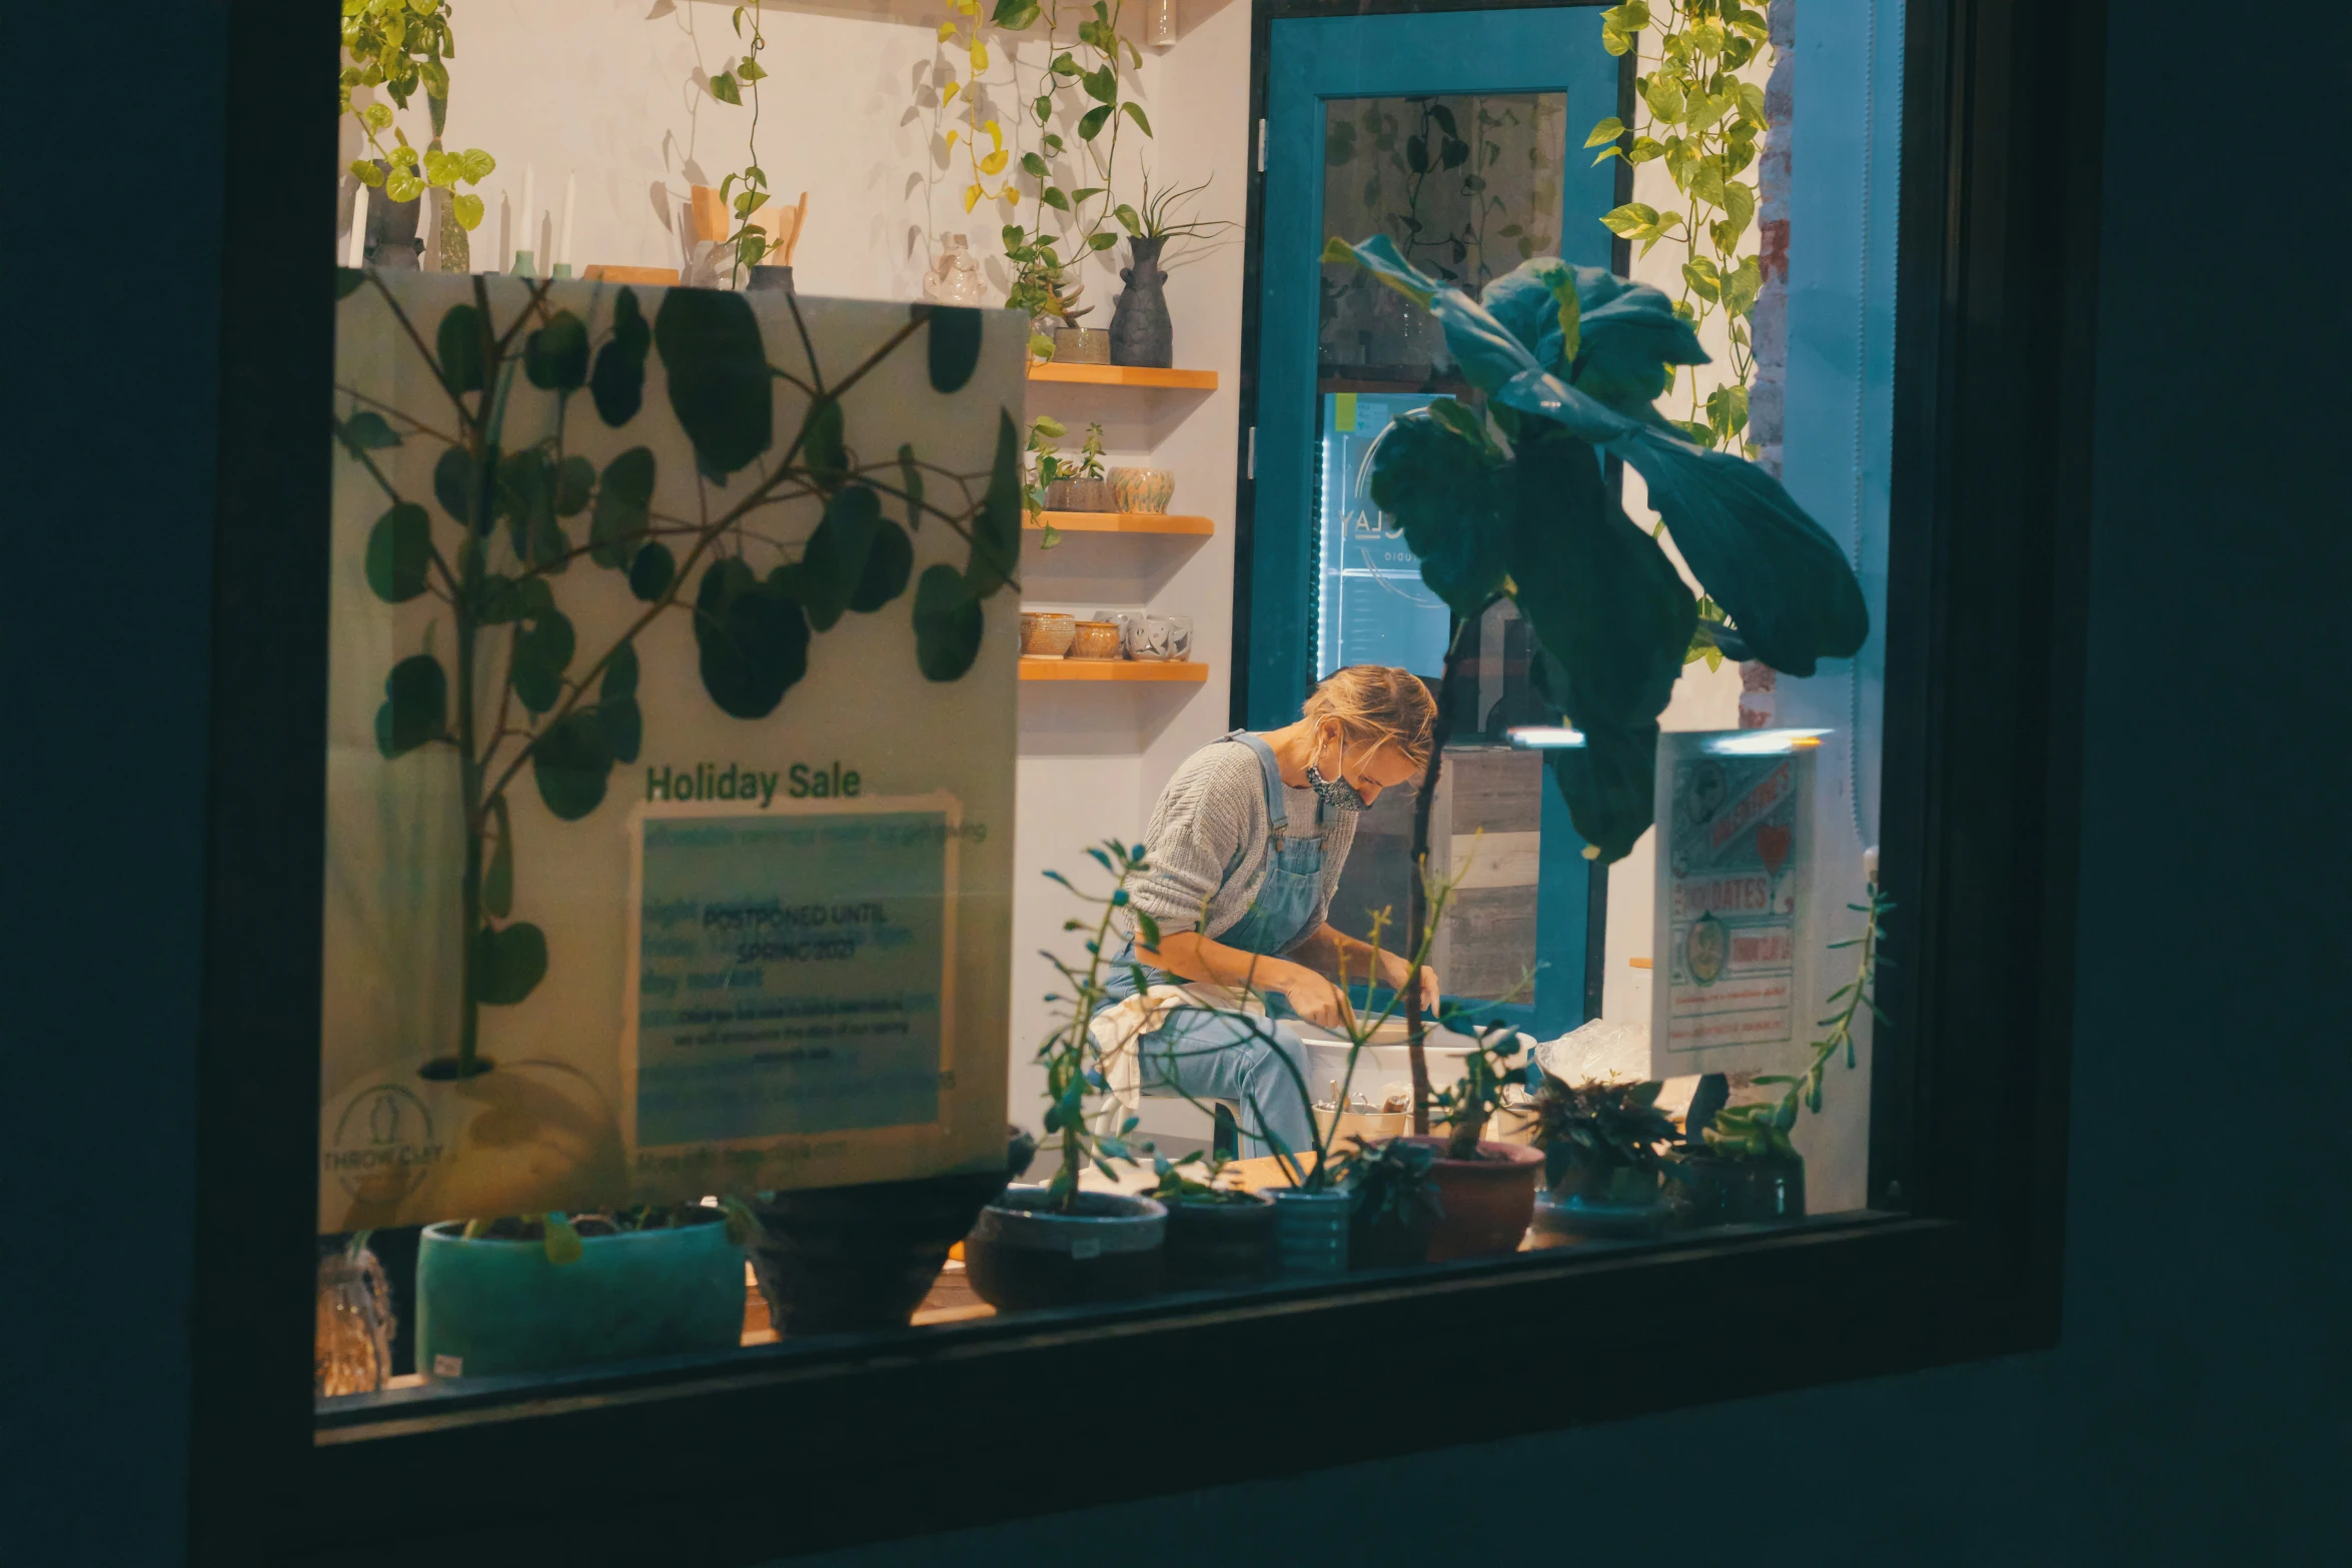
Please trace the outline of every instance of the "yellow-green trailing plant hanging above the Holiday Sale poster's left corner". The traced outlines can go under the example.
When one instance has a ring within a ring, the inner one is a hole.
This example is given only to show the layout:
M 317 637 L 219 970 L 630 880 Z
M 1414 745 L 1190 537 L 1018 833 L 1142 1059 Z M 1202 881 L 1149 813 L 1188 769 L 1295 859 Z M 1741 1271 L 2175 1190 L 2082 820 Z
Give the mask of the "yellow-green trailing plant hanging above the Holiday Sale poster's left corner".
M 482 226 L 482 197 L 459 186 L 477 186 L 499 167 L 499 160 L 482 148 L 463 153 L 442 150 L 442 127 L 449 120 L 449 63 L 456 59 L 456 35 L 449 31 L 449 0 L 343 0 L 343 52 L 350 63 L 339 78 L 343 113 L 360 122 L 374 158 L 358 158 L 350 165 L 353 179 L 383 190 L 386 200 L 414 202 L 426 188 L 449 193 L 449 209 L 459 228 Z M 395 122 L 393 106 L 353 106 L 353 87 L 379 87 L 402 110 L 416 92 L 426 94 L 426 113 L 433 136 L 423 155 L 409 146 L 407 132 Z M 383 134 L 393 143 L 383 143 Z M 376 162 L 386 167 L 379 169 Z

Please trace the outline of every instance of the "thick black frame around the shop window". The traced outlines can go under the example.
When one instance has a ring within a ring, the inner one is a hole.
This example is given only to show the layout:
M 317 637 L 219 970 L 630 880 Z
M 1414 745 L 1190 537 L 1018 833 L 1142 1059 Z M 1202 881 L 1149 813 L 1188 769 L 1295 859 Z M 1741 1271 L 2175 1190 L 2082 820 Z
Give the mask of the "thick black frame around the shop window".
M 1334 9 L 1404 7 L 1254 0 L 1258 59 L 1272 16 Z M 562 1552 L 760 1563 L 2056 1342 L 2103 0 L 1907 7 L 1882 823 L 1903 964 L 1884 976 L 1898 1027 L 1872 1063 L 1877 1208 L 588 1371 L 513 1401 L 433 1399 L 372 1420 L 320 1420 L 306 1354 L 327 759 L 318 520 L 334 353 L 332 270 L 318 259 L 334 230 L 336 26 L 332 9 L 233 0 L 228 31 L 226 146 L 282 148 L 289 174 L 240 169 L 223 214 L 191 1107 L 193 1561 L 393 1561 L 428 1547 L 447 1566 Z M 1251 219 L 1256 202 L 1251 179 Z M 1244 331 L 1244 409 L 1254 355 Z M 1534 1342 L 1578 1321 L 1609 1324 L 1613 1354 L 1531 1356 L 1515 1396 L 1479 1401 L 1468 1427 L 1352 1420 L 1327 1396 L 1371 1345 Z M 1251 1399 L 1204 1396 L 1202 1366 Z M 1033 1479 L 1051 1472 L 1016 1481 L 985 1462 L 1007 1422 L 1084 1432 L 1134 1408 L 1155 1413 L 1152 1453 L 1190 1455 L 1181 1469 L 1089 1450 L 1080 1488 L 1056 1490 Z M 1218 1441 L 1258 1410 L 1289 1413 L 1294 1441 Z M 882 1507 L 877 1476 L 920 1486 L 889 1481 Z M 687 1502 L 703 1497 L 720 1507 Z

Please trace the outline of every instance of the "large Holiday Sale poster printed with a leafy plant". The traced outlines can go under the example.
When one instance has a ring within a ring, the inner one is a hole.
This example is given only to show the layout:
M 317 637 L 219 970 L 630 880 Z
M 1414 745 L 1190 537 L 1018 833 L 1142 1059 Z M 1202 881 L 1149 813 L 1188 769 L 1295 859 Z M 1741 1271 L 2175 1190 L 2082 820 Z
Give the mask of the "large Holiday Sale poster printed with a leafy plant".
M 320 1232 L 1002 1164 L 1025 320 L 341 284 Z

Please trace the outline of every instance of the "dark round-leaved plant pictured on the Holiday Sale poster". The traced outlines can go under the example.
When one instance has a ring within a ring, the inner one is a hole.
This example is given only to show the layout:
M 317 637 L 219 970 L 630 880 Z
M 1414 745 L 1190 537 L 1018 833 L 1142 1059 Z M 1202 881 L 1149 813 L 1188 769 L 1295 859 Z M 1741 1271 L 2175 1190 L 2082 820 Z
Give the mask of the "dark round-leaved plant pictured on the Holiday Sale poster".
M 600 289 L 583 320 L 553 306 L 541 282 L 527 294 L 513 287 L 517 308 L 499 320 L 492 282 L 475 277 L 468 303 L 421 322 L 383 277 L 341 275 L 346 299 L 362 287 L 383 296 L 440 393 L 433 407 L 400 409 L 341 386 L 336 440 L 386 498 L 367 538 L 369 590 L 386 604 L 440 604 L 416 628 L 419 651 L 383 677 L 376 748 L 456 755 L 463 1011 L 442 1070 L 473 1077 L 489 1067 L 480 1009 L 522 1001 L 548 971 L 541 929 L 513 919 L 508 797 L 529 776 L 567 823 L 604 802 L 612 769 L 635 762 L 644 733 L 637 635 L 659 616 L 691 616 L 708 698 L 736 719 L 764 719 L 807 675 L 818 632 L 844 614 L 882 614 L 913 585 L 915 663 L 934 682 L 960 679 L 981 649 L 981 602 L 1014 581 L 1021 437 L 1000 409 L 990 470 L 953 473 L 910 444 L 868 461 L 844 425 L 851 388 L 915 339 L 927 339 L 931 386 L 960 390 L 978 364 L 978 310 L 915 306 L 863 360 L 828 376 L 790 296 L 793 353 L 771 353 L 741 294 L 670 289 L 647 320 L 633 289 Z M 691 517 L 659 505 L 652 444 L 597 468 L 567 442 L 581 402 L 612 430 L 661 437 L 659 416 L 637 425 L 647 357 L 659 360 L 670 416 L 694 449 L 696 473 L 670 477 L 673 494 L 691 487 Z M 524 421 L 510 411 L 546 411 L 550 397 L 553 414 L 529 425 L 546 433 L 515 440 Z M 388 461 L 416 442 L 435 451 L 430 494 L 395 482 L 414 463 Z M 969 543 L 962 569 L 941 562 L 915 576 L 908 531 L 924 520 Z M 637 609 L 616 637 L 583 646 L 574 614 L 614 597 L 595 585 L 600 574 Z

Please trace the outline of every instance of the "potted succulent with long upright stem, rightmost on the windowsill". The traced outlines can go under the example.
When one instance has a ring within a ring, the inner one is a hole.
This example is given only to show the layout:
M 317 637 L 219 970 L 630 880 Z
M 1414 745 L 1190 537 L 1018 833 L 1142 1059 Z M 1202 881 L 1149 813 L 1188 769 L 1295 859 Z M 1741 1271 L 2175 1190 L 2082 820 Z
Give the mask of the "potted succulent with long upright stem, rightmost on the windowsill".
M 1769 1100 L 1726 1105 L 1700 1128 L 1700 1143 L 1682 1157 L 1686 1192 L 1675 1199 L 1684 1225 L 1755 1225 L 1762 1220 L 1804 1218 L 1804 1154 L 1790 1133 L 1799 1105 L 1820 1114 L 1820 1081 L 1830 1058 L 1844 1053 L 1853 1070 L 1853 1020 L 1867 1006 L 1884 1023 L 1877 1001 L 1879 943 L 1884 919 L 1896 905 L 1879 896 L 1877 867 L 1870 865 L 1863 903 L 1849 903 L 1863 917 L 1863 933 L 1837 947 L 1858 947 L 1853 978 L 1830 992 L 1839 1004 L 1820 1020 L 1825 1034 L 1813 1041 L 1813 1063 L 1799 1074 L 1759 1072 L 1750 1084 L 1780 1086 Z

